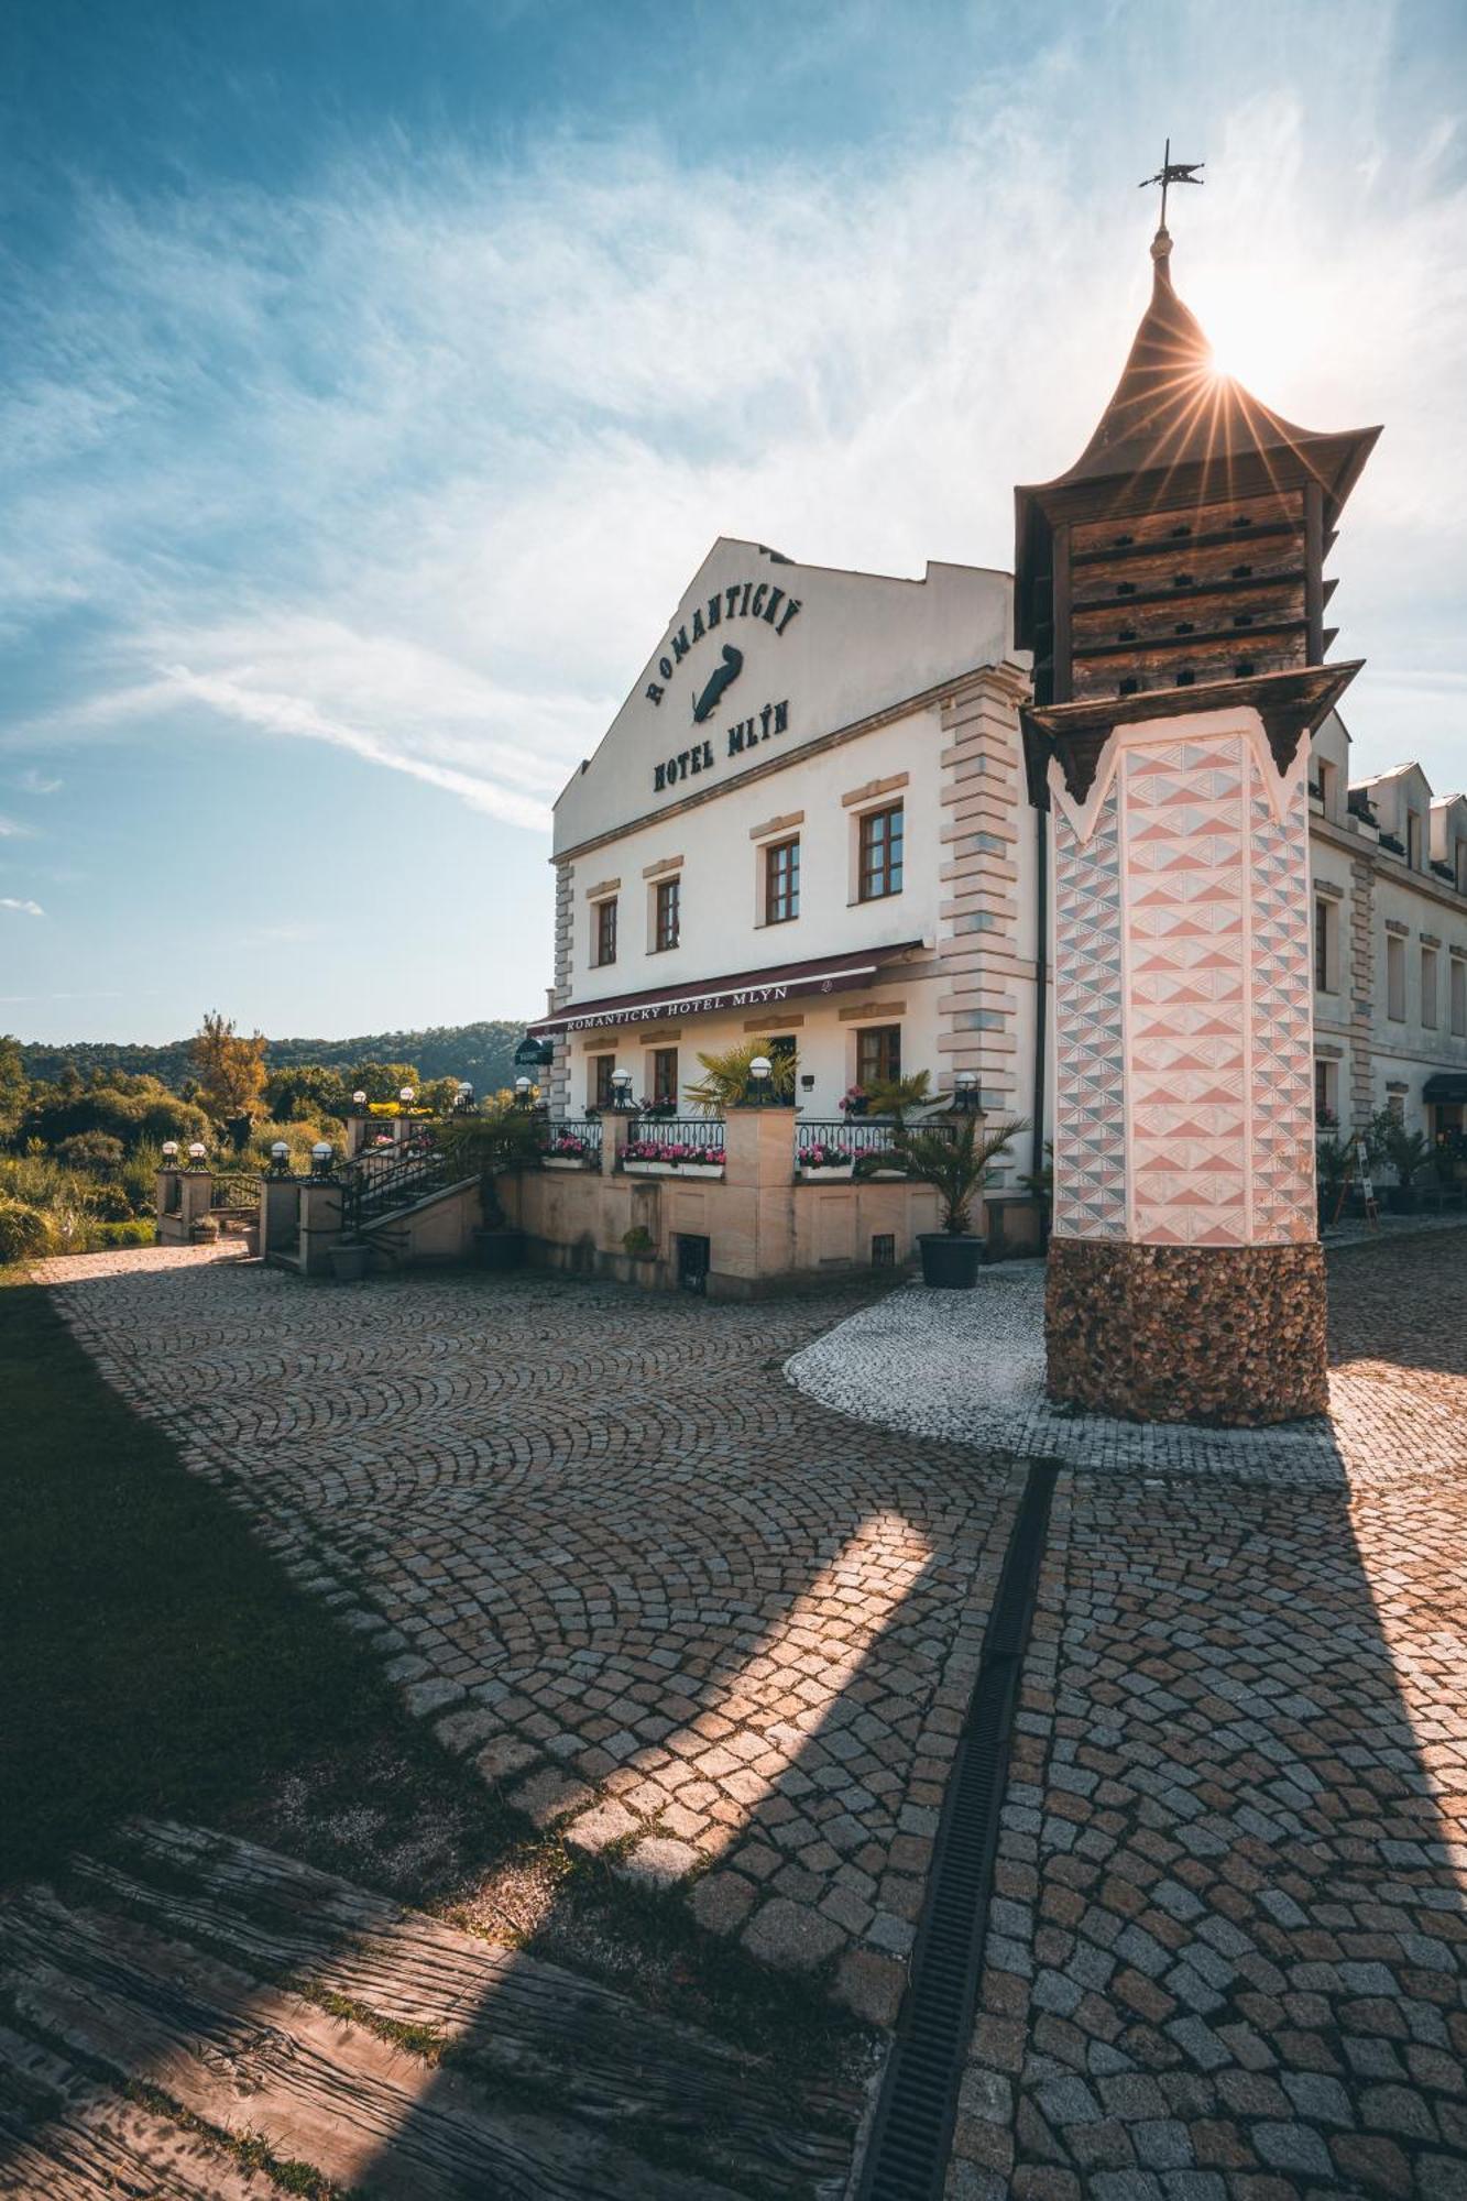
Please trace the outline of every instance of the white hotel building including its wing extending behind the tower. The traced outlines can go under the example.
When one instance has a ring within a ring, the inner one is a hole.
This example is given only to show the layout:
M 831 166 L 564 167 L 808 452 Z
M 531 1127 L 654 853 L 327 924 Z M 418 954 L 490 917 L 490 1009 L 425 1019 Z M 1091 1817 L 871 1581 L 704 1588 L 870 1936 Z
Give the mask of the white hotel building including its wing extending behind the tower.
M 1029 1118 L 1033 1167 L 1048 819 L 1011 599 L 987 568 L 711 548 L 555 806 L 555 986 L 531 1028 L 553 1114 L 608 1100 L 615 1070 L 683 1105 L 698 1052 L 758 1037 L 795 1050 L 813 1120 L 868 1078 L 952 1092 L 969 1070 L 987 1114 Z M 1397 1105 L 1460 1129 L 1467 799 L 1434 801 L 1416 766 L 1350 790 L 1339 718 L 1313 755 L 1317 1098 L 1346 1127 Z

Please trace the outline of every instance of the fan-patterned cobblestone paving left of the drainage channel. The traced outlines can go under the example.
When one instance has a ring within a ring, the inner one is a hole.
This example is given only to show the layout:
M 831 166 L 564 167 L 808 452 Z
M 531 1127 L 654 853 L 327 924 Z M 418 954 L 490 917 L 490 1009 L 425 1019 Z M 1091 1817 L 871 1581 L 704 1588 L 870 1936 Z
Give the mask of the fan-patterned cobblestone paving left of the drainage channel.
M 137 1252 L 46 1274 L 487 1781 L 892 2016 L 1020 1472 L 784 1382 L 859 1299 Z

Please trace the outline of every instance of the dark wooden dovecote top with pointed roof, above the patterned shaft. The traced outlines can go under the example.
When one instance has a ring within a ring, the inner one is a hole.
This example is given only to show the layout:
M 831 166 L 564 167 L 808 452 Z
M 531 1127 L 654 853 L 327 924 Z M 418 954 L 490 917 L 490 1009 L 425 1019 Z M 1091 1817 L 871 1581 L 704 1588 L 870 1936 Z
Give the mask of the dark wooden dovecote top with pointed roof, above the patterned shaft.
M 1068 473 L 1015 489 L 1015 640 L 1035 654 L 1026 718 L 1035 735 L 1084 722 L 1097 753 L 1119 718 L 1247 700 L 1297 720 L 1293 751 L 1355 671 L 1324 667 L 1324 557 L 1379 429 L 1319 434 L 1271 412 L 1216 370 L 1172 288 L 1165 227 L 1152 266 L 1090 442 Z M 1031 744 L 1035 797 L 1040 762 Z

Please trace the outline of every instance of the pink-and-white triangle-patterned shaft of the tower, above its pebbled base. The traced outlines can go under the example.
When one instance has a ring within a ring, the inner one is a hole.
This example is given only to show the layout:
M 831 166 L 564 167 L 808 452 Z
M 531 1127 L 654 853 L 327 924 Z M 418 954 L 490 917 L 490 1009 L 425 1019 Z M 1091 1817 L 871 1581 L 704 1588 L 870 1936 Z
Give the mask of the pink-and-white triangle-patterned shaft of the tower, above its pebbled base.
M 1152 722 L 1082 810 L 1053 792 L 1055 1235 L 1313 1239 L 1304 755 L 1280 777 L 1256 718 Z

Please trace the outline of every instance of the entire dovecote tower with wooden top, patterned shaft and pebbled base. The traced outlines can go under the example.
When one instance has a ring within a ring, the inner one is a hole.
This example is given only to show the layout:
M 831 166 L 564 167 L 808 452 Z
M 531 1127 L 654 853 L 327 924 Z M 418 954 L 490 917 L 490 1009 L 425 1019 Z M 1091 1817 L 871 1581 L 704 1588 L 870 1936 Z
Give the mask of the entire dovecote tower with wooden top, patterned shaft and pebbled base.
M 1015 491 L 1031 801 L 1053 810 L 1053 1398 L 1317 1413 L 1308 735 L 1324 557 L 1379 429 L 1313 434 L 1152 299 L 1068 473 Z

